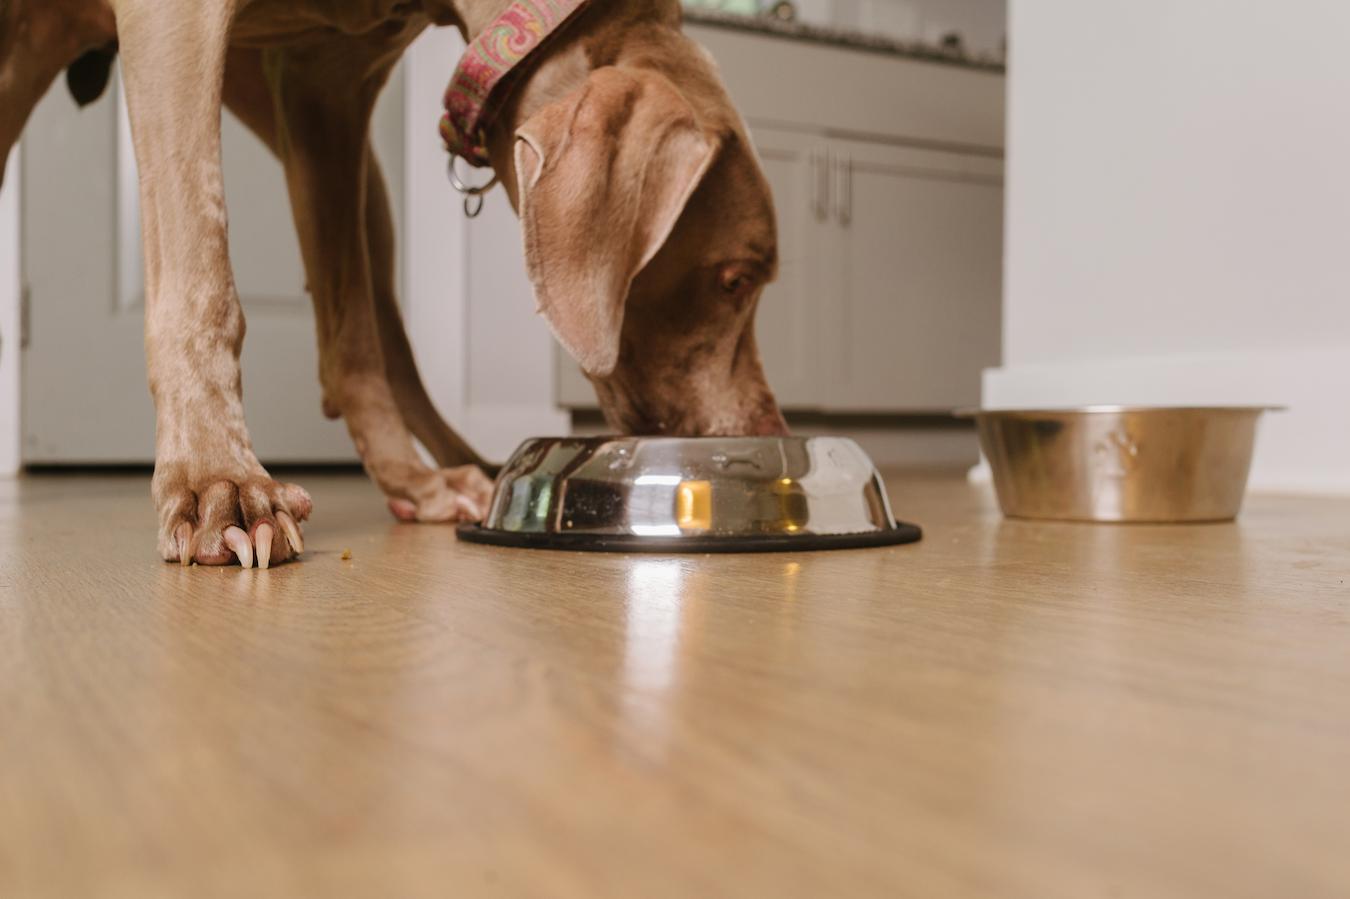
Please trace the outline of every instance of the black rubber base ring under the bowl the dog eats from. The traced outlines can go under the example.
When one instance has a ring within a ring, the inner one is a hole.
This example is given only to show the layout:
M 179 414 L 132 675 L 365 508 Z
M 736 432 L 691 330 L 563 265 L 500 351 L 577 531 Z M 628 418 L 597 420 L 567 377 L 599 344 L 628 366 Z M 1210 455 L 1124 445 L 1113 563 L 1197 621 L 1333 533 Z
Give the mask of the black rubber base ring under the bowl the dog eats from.
M 918 525 L 900 522 L 894 530 L 873 533 L 779 535 L 742 537 L 639 537 L 634 535 L 598 536 L 590 533 L 514 533 L 490 530 L 477 524 L 460 525 L 455 532 L 464 543 L 514 549 L 563 549 L 570 552 L 648 552 L 732 553 L 732 552 L 822 552 L 826 549 L 872 549 L 918 543 L 923 532 Z

